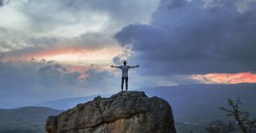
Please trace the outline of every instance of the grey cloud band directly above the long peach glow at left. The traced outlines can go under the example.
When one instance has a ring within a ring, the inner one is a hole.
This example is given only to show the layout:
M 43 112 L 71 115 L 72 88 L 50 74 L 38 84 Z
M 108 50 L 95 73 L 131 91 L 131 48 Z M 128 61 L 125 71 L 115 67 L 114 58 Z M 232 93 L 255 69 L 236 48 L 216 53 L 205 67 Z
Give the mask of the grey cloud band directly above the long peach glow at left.
M 40 51 L 53 50 L 65 47 L 79 47 L 86 49 L 102 49 L 113 45 L 114 40 L 102 35 L 101 33 L 84 33 L 79 37 L 73 38 L 56 38 L 56 37 L 40 37 L 40 38 L 25 38 L 26 47 L 23 49 L 15 49 L 22 45 L 23 42 L 0 41 L 0 52 L 2 49 L 12 49 L 8 52 L 3 52 L 5 55 L 32 55 Z M 72 45 L 71 45 L 72 44 Z M 0 53 L 1 54 L 1 53 Z

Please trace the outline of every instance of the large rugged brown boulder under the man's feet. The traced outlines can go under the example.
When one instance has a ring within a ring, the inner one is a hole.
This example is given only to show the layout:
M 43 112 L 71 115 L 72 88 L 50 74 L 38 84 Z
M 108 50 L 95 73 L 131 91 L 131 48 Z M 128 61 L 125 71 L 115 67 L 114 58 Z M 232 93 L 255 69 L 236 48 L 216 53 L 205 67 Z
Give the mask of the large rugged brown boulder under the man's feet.
M 49 133 L 176 133 L 172 108 L 159 97 L 124 91 L 51 116 Z

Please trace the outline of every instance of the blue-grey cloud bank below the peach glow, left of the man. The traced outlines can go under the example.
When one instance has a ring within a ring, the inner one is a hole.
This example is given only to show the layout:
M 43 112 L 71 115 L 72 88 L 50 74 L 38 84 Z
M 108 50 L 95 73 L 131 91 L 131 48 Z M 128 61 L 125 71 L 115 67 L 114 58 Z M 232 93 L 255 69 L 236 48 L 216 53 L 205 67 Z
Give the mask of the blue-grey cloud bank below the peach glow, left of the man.
M 113 72 L 95 67 L 70 71 L 55 62 L 0 61 L 0 108 L 31 106 L 67 97 L 111 94 L 119 91 Z M 81 78 L 84 74 L 84 78 Z M 106 91 L 108 90 L 108 91 Z

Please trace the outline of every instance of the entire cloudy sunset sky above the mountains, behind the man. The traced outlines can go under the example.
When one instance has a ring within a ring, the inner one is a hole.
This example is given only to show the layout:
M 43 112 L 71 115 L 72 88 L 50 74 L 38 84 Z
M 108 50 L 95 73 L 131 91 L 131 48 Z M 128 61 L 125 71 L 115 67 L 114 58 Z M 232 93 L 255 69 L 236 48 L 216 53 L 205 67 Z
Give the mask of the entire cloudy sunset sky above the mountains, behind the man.
M 0 108 L 179 84 L 256 83 L 256 0 L 0 0 Z

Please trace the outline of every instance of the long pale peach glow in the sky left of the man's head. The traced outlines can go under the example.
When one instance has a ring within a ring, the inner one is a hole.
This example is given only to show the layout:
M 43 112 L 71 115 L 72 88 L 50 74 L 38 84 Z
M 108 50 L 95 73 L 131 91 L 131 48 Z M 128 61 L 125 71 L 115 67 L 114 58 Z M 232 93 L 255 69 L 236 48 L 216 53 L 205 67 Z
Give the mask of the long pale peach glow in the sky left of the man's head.
M 111 63 L 115 55 L 118 55 L 121 49 L 111 47 L 105 49 L 87 49 L 87 48 L 57 48 L 44 50 L 31 55 L 26 55 L 26 59 L 34 58 L 37 61 L 45 59 L 46 61 L 58 61 L 72 65 L 88 64 L 106 64 Z

